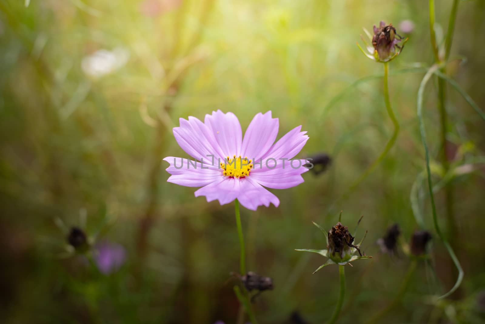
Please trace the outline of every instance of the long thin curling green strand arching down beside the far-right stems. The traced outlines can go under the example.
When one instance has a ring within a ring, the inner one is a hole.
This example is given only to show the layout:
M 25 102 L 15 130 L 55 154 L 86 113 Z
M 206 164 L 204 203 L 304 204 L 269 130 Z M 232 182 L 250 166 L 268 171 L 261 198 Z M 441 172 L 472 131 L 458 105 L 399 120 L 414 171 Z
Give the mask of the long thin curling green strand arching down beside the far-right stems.
M 456 279 L 456 282 L 452 289 L 445 293 L 444 295 L 440 296 L 439 299 L 448 297 L 450 294 L 453 293 L 458 287 L 461 285 L 461 282 L 463 280 L 463 269 L 461 268 L 460 261 L 456 257 L 456 255 L 453 252 L 453 248 L 451 247 L 450 243 L 446 240 L 446 238 L 443 236 L 443 233 L 441 232 L 441 229 L 439 228 L 438 224 L 438 216 L 436 214 L 436 205 L 435 205 L 435 195 L 433 193 L 433 182 L 431 179 L 431 168 L 430 168 L 430 158 L 429 158 L 429 150 L 428 150 L 428 144 L 426 144 L 426 131 L 424 129 L 424 122 L 423 122 L 423 117 L 422 117 L 422 103 L 423 103 L 423 93 L 424 93 L 424 88 L 426 84 L 428 83 L 429 79 L 435 73 L 435 71 L 439 68 L 439 65 L 434 65 L 431 67 L 428 72 L 424 75 L 419 90 L 418 90 L 418 120 L 420 123 L 420 133 L 421 133 L 421 141 L 424 147 L 424 153 L 426 157 L 426 172 L 428 175 L 428 190 L 429 190 L 429 195 L 430 195 L 430 200 L 431 200 L 431 210 L 433 213 L 433 223 L 435 225 L 436 233 L 438 234 L 438 237 L 441 239 L 443 244 L 445 245 L 446 250 L 450 254 L 450 257 L 453 260 L 453 263 L 458 270 L 458 278 Z

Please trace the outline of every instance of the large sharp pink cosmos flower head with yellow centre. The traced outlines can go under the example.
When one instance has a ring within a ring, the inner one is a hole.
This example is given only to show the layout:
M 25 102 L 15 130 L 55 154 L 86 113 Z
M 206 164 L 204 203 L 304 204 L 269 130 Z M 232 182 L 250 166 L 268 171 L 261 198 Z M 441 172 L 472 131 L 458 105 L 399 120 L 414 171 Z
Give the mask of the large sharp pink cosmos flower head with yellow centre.
M 204 122 L 190 116 L 179 119 L 174 127 L 178 145 L 194 160 L 168 156 L 168 182 L 186 187 L 202 187 L 195 197 L 205 196 L 208 202 L 221 205 L 238 199 L 244 207 L 276 207 L 279 199 L 266 188 L 286 189 L 301 184 L 301 174 L 308 171 L 306 161 L 291 160 L 298 154 L 308 136 L 301 125 L 293 128 L 276 143 L 279 122 L 271 111 L 257 114 L 244 138 L 241 124 L 231 112 L 213 111 Z

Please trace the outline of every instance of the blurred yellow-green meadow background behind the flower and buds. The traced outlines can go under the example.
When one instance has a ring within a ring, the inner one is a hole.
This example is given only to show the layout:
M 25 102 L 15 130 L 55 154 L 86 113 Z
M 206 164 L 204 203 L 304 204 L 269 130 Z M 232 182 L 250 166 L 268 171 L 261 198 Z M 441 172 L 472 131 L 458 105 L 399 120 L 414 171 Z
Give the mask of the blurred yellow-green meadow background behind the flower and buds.
M 452 1 L 437 1 L 438 42 Z M 485 2 L 460 1 L 447 73 L 485 106 Z M 400 30 L 403 20 L 414 29 Z M 390 98 L 401 124 L 395 147 L 346 199 L 339 197 L 379 155 L 392 133 L 382 95 L 383 65 L 356 42 L 380 20 L 409 37 L 390 67 Z M 434 236 L 397 307 L 382 323 L 484 323 L 484 121 L 447 88 L 449 159 L 456 176 L 454 221 L 441 228 L 465 271 L 456 271 L 433 229 L 417 119 L 417 90 L 433 61 L 422 0 L 1 0 L 0 318 L 2 323 L 235 323 L 239 269 L 233 204 L 195 198 L 166 182 L 165 156 L 185 154 L 178 118 L 234 112 L 245 129 L 267 110 L 282 136 L 302 125 L 300 157 L 325 152 L 328 170 L 271 190 L 278 208 L 242 208 L 248 269 L 274 280 L 254 305 L 259 323 L 322 323 L 338 296 L 337 267 L 294 248 L 324 248 L 312 225 L 342 222 L 374 256 L 347 267 L 340 323 L 363 323 L 389 304 L 410 261 L 382 254 L 377 239 L 398 222 L 402 239 Z M 369 77 L 375 76 L 375 77 Z M 369 77 L 369 78 L 366 78 Z M 366 78 L 363 79 L 362 78 Z M 360 81 L 359 81 L 360 80 Z M 424 122 L 439 170 L 436 79 L 425 91 Z M 482 158 L 483 161 L 483 158 Z M 439 172 L 438 172 L 439 173 Z M 437 183 L 439 176 L 434 178 Z M 413 188 L 413 190 L 412 190 Z M 126 249 L 109 274 L 72 254 L 67 232 L 81 227 Z M 482 296 L 482 301 L 480 301 Z M 298 312 L 305 322 L 296 321 Z M 293 317 L 291 319 L 291 314 Z M 380 323 L 380 322 L 379 322 Z

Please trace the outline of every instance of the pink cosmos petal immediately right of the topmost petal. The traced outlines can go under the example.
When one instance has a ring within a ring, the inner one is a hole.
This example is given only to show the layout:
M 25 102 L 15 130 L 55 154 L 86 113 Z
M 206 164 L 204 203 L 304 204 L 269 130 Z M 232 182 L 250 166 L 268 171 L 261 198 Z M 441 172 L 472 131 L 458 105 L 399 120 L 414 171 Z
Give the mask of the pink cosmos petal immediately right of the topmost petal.
M 271 117 L 271 111 L 254 116 L 244 133 L 241 155 L 250 159 L 262 157 L 275 143 L 278 127 L 279 121 Z

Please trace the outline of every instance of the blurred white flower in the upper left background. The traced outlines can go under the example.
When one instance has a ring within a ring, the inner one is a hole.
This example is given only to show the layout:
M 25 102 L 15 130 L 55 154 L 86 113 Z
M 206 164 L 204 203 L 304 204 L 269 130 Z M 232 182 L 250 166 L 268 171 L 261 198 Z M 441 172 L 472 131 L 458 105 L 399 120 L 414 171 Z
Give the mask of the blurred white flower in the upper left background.
M 81 68 L 87 75 L 102 77 L 123 67 L 129 58 L 129 51 L 117 47 L 113 51 L 98 50 L 82 59 Z

